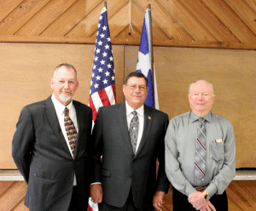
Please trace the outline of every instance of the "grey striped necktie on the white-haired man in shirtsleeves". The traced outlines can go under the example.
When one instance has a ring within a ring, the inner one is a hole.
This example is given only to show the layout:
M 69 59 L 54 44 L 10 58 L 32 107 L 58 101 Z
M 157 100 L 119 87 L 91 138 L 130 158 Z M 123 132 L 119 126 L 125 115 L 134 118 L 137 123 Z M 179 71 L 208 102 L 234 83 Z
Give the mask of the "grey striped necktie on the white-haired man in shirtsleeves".
M 199 118 L 198 121 L 199 128 L 195 143 L 195 176 L 198 179 L 201 179 L 206 174 L 207 130 L 205 126 L 205 119 Z

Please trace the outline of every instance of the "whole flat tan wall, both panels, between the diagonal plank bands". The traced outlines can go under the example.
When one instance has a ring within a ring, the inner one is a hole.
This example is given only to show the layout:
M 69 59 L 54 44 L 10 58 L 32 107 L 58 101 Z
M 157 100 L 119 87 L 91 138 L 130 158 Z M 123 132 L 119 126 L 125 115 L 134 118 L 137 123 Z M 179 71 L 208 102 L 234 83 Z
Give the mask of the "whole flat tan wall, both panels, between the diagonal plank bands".
M 10 152 L 20 110 L 51 94 L 49 78 L 55 66 L 73 64 L 79 71 L 74 99 L 88 104 L 94 45 L 0 43 L 2 84 L 0 168 L 15 168 Z M 123 99 L 123 78 L 136 70 L 137 46 L 113 46 L 117 102 Z M 256 167 L 255 62 L 247 50 L 154 48 L 160 110 L 169 118 L 189 111 L 189 84 L 204 78 L 215 86 L 212 111 L 230 120 L 236 136 L 236 168 Z M 254 86 L 253 86 L 254 85 Z

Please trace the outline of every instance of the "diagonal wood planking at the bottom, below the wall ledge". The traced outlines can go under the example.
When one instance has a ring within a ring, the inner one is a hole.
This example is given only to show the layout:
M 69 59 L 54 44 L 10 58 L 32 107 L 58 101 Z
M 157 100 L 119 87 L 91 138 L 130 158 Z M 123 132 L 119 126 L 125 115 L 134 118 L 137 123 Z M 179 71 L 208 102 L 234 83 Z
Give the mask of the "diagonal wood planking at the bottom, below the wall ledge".
M 226 192 L 230 211 L 256 210 L 256 181 L 232 181 Z M 0 182 L 0 211 L 28 211 L 24 205 L 26 183 L 24 181 Z M 163 211 L 172 211 L 172 186 L 165 197 Z

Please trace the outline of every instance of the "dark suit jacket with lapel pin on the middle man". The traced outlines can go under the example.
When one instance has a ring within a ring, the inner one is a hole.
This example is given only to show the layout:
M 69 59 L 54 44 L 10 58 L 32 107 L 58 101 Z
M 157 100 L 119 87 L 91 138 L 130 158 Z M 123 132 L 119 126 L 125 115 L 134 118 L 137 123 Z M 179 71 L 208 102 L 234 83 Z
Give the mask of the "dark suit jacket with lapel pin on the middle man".
M 167 126 L 166 113 L 144 106 L 143 137 L 134 155 L 125 102 L 99 109 L 93 130 L 94 182 L 102 182 L 103 202 L 123 207 L 131 190 L 136 208 L 144 208 L 152 205 L 155 191 L 168 191 L 164 143 Z M 156 180 L 157 158 L 160 165 Z

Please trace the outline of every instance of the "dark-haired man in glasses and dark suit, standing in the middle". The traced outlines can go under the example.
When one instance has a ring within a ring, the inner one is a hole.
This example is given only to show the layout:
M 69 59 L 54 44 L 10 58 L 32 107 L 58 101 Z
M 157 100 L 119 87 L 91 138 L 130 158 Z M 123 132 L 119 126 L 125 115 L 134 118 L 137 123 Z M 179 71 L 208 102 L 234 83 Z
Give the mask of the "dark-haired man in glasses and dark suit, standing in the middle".
M 170 185 L 164 145 L 168 116 L 144 105 L 147 83 L 142 73 L 131 72 L 123 85 L 125 102 L 98 111 L 93 131 L 94 182 L 100 184 L 91 185 L 91 197 L 99 202 L 100 211 L 161 210 L 164 204 Z M 132 111 L 137 111 L 139 119 L 135 152 L 128 132 Z M 160 164 L 156 180 L 157 158 Z

